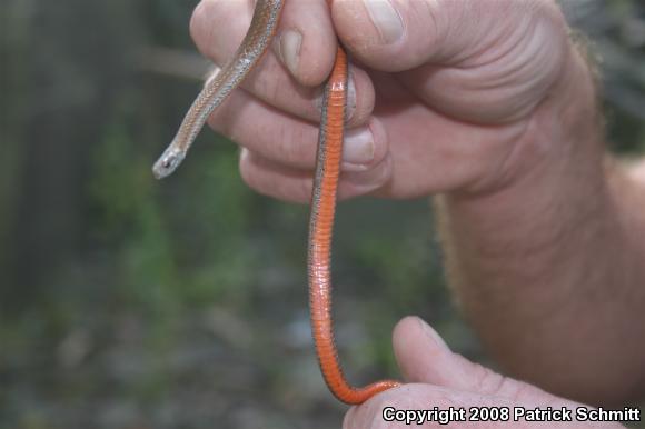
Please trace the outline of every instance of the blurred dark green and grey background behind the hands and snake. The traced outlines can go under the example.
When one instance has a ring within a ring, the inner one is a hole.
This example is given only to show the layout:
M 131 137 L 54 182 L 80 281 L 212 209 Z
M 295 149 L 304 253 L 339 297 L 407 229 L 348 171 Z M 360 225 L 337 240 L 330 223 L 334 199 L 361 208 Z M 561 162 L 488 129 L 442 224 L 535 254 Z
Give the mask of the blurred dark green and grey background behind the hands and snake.
M 310 341 L 308 209 L 247 189 L 210 131 L 171 179 L 150 173 L 208 67 L 196 3 L 0 1 L 2 428 L 340 427 Z M 644 3 L 563 6 L 603 60 L 613 150 L 641 153 Z M 343 203 L 335 283 L 353 381 L 397 377 L 390 332 L 410 313 L 489 363 L 427 200 Z

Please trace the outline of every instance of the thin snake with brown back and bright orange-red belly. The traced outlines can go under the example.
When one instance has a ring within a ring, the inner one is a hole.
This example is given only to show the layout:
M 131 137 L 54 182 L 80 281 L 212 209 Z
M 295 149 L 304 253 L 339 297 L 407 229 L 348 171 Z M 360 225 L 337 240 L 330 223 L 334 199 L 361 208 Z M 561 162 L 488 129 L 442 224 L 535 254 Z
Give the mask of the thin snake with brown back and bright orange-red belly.
M 331 7 L 334 0 L 328 0 Z M 177 134 L 152 167 L 157 179 L 171 174 L 185 159 L 210 113 L 235 90 L 260 61 L 274 39 L 285 0 L 257 0 L 251 23 L 232 58 L 207 81 L 190 106 Z M 336 214 L 343 139 L 346 120 L 348 59 L 338 42 L 334 68 L 325 83 L 318 150 L 311 192 L 307 271 L 311 335 L 322 378 L 339 401 L 360 405 L 396 380 L 354 387 L 345 377 L 334 336 L 331 315 L 331 238 Z

